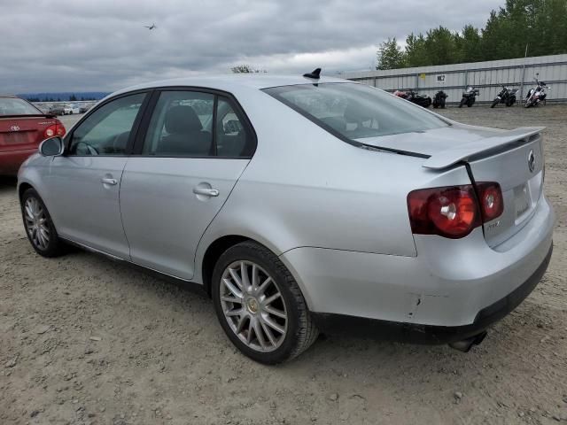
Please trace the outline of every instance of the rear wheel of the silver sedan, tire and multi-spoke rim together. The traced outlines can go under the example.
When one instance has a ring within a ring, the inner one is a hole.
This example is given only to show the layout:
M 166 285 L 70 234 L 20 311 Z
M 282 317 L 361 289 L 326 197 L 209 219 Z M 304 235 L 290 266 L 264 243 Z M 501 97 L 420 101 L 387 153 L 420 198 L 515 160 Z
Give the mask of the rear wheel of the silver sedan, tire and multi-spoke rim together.
M 297 282 L 259 243 L 238 243 L 221 255 L 214 267 L 212 295 L 232 344 L 260 363 L 293 359 L 319 334 Z

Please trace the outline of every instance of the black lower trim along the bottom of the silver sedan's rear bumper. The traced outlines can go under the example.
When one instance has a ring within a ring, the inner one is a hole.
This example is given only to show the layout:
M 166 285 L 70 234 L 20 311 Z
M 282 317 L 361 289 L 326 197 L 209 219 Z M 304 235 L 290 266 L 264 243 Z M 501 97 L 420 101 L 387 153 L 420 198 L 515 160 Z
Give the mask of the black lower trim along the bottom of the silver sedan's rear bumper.
M 325 333 L 348 333 L 355 336 L 377 336 L 380 339 L 414 344 L 448 344 L 477 336 L 495 321 L 512 312 L 540 282 L 548 269 L 553 245 L 540 267 L 516 290 L 480 310 L 470 325 L 428 326 L 416 323 L 379 321 L 343 314 L 312 313 L 317 327 Z

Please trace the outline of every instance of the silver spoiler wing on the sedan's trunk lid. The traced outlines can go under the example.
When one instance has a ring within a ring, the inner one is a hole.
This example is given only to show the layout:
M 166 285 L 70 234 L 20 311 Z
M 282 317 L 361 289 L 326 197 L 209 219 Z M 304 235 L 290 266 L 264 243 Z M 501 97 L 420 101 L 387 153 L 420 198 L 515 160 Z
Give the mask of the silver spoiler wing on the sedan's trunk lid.
M 460 146 L 455 149 L 448 149 L 431 155 L 423 163 L 425 168 L 434 170 L 441 170 L 448 166 L 470 159 L 494 155 L 499 151 L 508 151 L 514 145 L 521 145 L 530 143 L 538 138 L 538 134 L 545 127 L 521 127 L 515 130 L 504 130 L 499 135 L 486 137 L 485 139 L 477 140 Z

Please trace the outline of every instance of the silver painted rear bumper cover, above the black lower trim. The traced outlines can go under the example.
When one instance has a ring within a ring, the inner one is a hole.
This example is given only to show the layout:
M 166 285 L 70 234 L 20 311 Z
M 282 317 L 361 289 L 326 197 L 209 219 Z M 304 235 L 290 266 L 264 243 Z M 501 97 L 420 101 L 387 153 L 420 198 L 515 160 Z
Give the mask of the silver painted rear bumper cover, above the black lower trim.
M 545 271 L 554 224 L 541 197 L 524 228 L 493 248 L 477 228 L 458 240 L 416 237 L 416 257 L 303 247 L 280 258 L 313 313 L 478 328 L 481 311 L 531 282 L 540 267 Z

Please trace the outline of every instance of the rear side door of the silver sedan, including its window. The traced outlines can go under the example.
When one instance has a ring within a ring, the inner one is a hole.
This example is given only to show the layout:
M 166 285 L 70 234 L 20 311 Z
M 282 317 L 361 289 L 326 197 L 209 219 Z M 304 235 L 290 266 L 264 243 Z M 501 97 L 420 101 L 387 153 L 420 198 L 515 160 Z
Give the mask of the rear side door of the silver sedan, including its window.
M 250 162 L 255 136 L 227 94 L 163 89 L 120 186 L 130 257 L 191 279 L 207 226 Z

